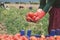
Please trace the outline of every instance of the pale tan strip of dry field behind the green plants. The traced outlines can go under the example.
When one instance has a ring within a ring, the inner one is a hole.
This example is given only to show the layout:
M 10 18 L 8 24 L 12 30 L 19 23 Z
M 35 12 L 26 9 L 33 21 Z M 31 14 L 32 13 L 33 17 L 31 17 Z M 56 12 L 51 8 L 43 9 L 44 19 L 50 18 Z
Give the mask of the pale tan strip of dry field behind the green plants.
M 5 4 L 5 6 L 16 8 L 19 8 L 19 6 L 23 6 L 24 8 L 29 8 L 30 6 L 32 6 L 33 8 L 38 8 L 39 4 Z

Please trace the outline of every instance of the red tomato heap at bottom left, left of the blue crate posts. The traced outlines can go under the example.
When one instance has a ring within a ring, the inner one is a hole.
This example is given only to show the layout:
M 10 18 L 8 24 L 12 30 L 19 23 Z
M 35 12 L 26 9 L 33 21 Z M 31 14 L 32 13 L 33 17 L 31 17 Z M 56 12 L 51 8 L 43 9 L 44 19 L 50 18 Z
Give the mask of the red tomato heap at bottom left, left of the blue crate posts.
M 28 38 L 21 36 L 19 33 L 15 35 L 0 34 L 0 40 L 28 40 Z

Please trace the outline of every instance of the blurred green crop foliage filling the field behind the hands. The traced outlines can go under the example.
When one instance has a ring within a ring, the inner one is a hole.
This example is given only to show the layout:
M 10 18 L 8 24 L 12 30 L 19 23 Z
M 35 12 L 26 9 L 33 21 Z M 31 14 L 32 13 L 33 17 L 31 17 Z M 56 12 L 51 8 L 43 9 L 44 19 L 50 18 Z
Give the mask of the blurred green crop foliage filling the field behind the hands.
M 36 9 L 16 9 L 10 8 L 4 9 L 0 8 L 0 22 L 4 23 L 7 27 L 8 34 L 16 34 L 19 33 L 20 30 L 27 31 L 28 29 L 32 30 L 33 34 L 47 34 L 48 29 L 48 14 L 44 18 L 42 18 L 37 23 L 27 22 L 25 16 L 28 12 L 35 12 Z

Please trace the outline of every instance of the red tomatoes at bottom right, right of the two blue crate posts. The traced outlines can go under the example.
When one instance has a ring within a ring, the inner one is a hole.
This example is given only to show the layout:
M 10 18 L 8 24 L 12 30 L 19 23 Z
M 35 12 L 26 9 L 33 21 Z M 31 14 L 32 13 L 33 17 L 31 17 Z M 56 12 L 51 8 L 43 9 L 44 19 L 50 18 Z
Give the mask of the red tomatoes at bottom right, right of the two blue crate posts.
M 30 37 L 30 40 L 60 40 L 60 36 L 50 36 L 50 37 L 35 37 L 35 36 L 32 36 Z

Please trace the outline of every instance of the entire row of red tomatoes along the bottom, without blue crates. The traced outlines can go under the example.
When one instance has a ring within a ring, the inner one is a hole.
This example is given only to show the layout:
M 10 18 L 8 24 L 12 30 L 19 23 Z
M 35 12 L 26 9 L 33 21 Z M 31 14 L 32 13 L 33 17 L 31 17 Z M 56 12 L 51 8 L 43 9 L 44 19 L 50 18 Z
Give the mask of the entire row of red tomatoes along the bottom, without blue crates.
M 0 40 L 60 40 L 60 36 L 41 36 L 41 37 L 36 37 L 36 36 L 21 36 L 19 33 L 15 35 L 7 35 L 7 34 L 0 34 Z

